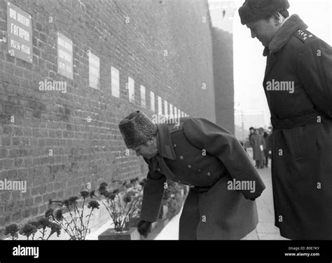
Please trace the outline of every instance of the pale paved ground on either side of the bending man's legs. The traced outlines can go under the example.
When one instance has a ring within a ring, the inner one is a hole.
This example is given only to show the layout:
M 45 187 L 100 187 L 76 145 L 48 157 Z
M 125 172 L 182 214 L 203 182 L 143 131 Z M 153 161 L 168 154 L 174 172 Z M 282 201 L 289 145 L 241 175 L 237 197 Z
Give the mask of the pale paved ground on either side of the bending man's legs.
M 256 200 L 258 208 L 259 223 L 257 228 L 247 236 L 247 240 L 282 240 L 279 229 L 275 227 L 275 217 L 272 197 L 272 181 L 270 168 L 259 169 L 266 186 L 263 194 Z M 162 229 L 155 240 L 177 240 L 179 235 L 179 218 L 181 212 Z

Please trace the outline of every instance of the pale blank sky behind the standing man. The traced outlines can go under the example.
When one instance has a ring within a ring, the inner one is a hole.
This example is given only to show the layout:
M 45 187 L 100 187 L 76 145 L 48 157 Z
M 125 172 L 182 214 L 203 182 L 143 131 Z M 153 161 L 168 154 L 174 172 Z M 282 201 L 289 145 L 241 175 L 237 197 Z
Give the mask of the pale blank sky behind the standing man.
M 243 3 L 244 0 L 235 0 L 233 18 L 235 108 L 248 114 L 263 113 L 262 126 L 269 126 L 270 112 L 263 91 L 266 58 L 262 55 L 261 43 L 257 39 L 251 39 L 250 30 L 240 23 L 237 10 Z M 312 34 L 332 45 L 331 0 L 289 0 L 289 4 L 290 15 L 297 13 L 309 26 L 308 30 Z

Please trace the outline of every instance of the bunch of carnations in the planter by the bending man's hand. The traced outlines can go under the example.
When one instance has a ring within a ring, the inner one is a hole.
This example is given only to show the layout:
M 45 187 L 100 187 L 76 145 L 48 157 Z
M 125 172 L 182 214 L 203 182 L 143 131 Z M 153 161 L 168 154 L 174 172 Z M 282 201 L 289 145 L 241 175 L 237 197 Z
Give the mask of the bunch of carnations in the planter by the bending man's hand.
M 120 184 L 116 189 L 108 191 L 108 184 L 102 182 L 98 188 L 100 197 L 96 196 L 105 206 L 113 221 L 114 230 L 118 232 L 127 230 L 130 220 L 139 217 L 145 182 L 139 182 L 139 178 L 135 178 Z

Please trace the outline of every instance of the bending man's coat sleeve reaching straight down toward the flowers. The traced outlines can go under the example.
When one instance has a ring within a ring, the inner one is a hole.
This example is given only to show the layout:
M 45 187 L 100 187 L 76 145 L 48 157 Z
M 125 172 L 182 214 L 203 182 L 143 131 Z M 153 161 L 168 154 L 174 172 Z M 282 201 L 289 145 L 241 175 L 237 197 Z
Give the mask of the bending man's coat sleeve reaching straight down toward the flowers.
M 148 162 L 146 161 L 146 163 Z M 147 182 L 143 190 L 140 219 L 147 222 L 156 222 L 158 221 L 162 197 L 164 196 L 166 177 L 161 173 L 151 172 L 149 168 L 146 179 Z

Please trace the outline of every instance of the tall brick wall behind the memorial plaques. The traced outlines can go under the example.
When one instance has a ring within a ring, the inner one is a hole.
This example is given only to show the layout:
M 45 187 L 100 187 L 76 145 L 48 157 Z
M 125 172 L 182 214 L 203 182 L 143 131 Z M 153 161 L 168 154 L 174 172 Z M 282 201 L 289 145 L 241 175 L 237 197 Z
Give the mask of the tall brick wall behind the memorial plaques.
M 125 155 L 117 123 L 136 109 L 151 116 L 150 90 L 156 112 L 160 96 L 162 107 L 166 100 L 215 121 L 206 0 L 11 3 L 32 15 L 33 62 L 12 57 L 0 43 L 0 180 L 25 180 L 27 192 L 0 191 L 0 229 L 42 215 L 50 198 L 76 195 L 88 182 L 95 188 L 145 176 L 144 162 L 133 151 Z M 6 6 L 0 0 L 5 35 Z M 58 32 L 73 41 L 72 80 L 57 74 Z M 99 90 L 89 86 L 89 50 L 100 59 Z M 120 97 L 111 95 L 111 66 L 120 72 Z M 125 88 L 129 76 L 134 103 Z M 39 81 L 46 79 L 67 81 L 67 93 L 40 91 Z M 146 109 L 140 85 L 146 87 Z

